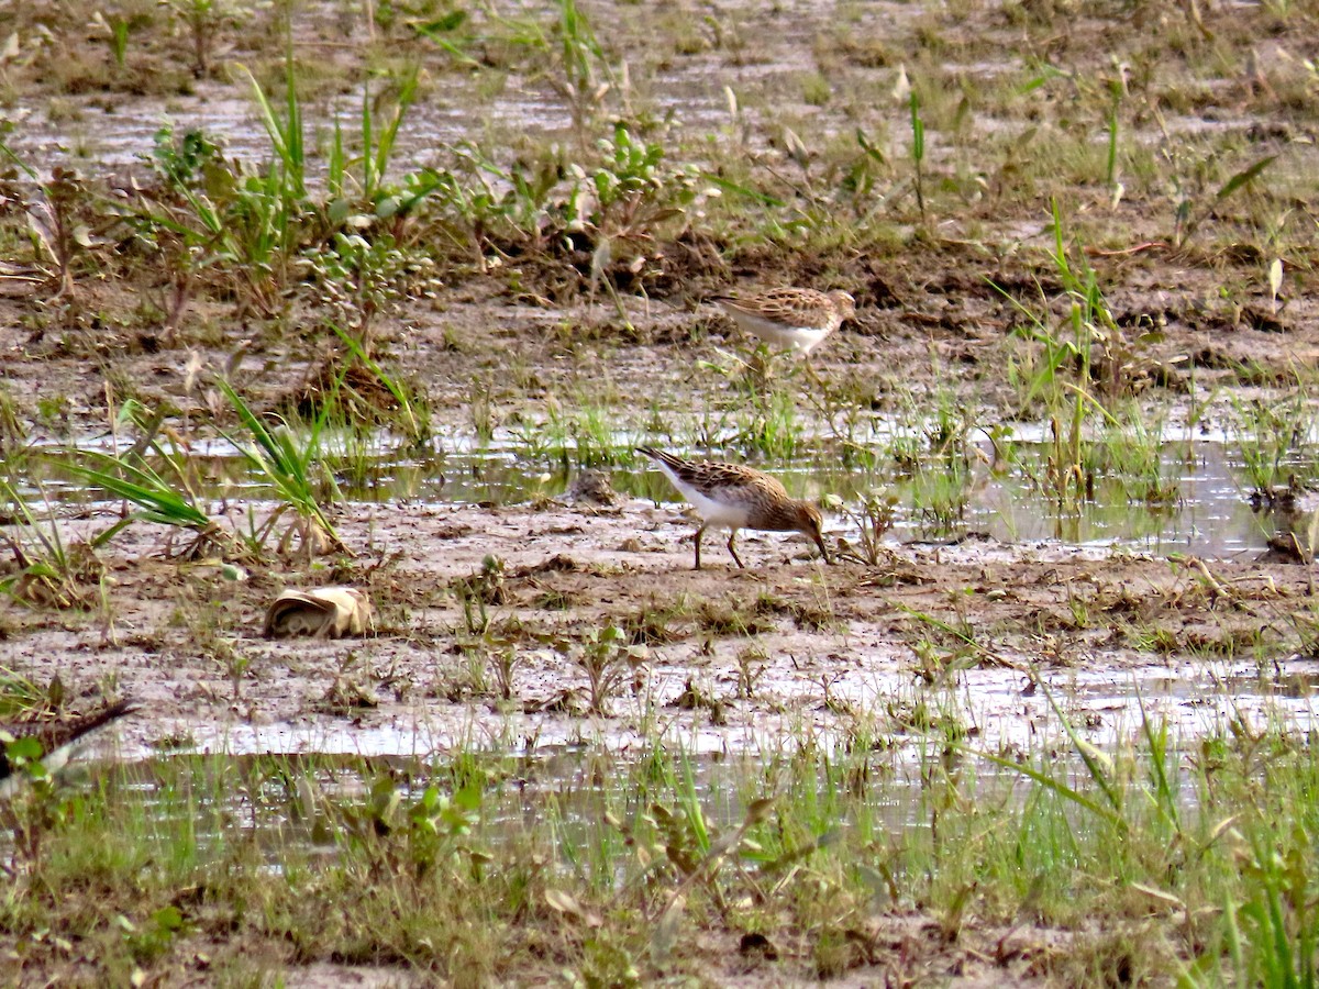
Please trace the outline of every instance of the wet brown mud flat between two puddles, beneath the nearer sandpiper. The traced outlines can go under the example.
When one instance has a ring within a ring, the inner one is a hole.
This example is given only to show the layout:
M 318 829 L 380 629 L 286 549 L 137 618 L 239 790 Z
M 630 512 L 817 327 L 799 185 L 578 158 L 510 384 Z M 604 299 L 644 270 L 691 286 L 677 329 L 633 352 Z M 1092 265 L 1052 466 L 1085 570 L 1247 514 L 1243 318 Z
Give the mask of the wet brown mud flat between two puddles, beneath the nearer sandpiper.
M 679 506 L 634 498 L 353 506 L 347 572 L 297 585 L 364 589 L 375 629 L 268 641 L 288 575 L 233 582 L 218 560 L 161 559 L 164 531 L 142 526 L 107 558 L 108 614 L 11 612 L 8 665 L 137 698 L 129 758 L 627 750 L 657 719 L 674 746 L 747 753 L 802 733 L 921 734 L 905 719 L 931 696 L 977 745 L 1010 752 L 1058 731 L 1041 684 L 1096 744 L 1129 740 L 1138 703 L 1188 741 L 1237 715 L 1301 732 L 1312 719 L 1304 567 L 981 539 L 824 566 L 803 539 L 744 533 L 747 570 L 707 547 L 696 572 L 691 530 Z M 617 669 L 591 709 L 582 654 L 607 628 Z

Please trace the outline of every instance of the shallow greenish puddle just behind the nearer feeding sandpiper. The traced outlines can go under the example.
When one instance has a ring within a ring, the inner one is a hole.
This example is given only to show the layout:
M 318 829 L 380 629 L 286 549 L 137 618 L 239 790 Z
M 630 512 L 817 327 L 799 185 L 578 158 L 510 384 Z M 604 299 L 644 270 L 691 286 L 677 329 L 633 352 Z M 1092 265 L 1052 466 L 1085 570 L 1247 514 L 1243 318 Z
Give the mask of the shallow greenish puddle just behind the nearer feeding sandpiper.
M 561 451 L 530 459 L 512 438 L 499 438 L 484 448 L 470 442 L 442 440 L 447 452 L 425 458 L 400 456 L 389 436 L 361 440 L 327 440 L 342 452 L 324 462 L 347 502 L 435 505 L 520 505 L 539 498 L 561 498 L 579 469 L 568 463 L 575 451 Z M 630 442 L 620 440 L 627 450 Z M 108 451 L 111 443 L 91 442 L 87 448 Z M 608 447 L 608 454 L 615 447 Z M 851 542 L 857 524 L 848 518 L 868 492 L 890 493 L 897 513 L 890 538 L 900 542 L 952 539 L 968 533 L 985 534 L 998 542 L 1053 541 L 1067 546 L 1121 546 L 1153 555 L 1186 553 L 1204 559 L 1227 559 L 1262 551 L 1275 531 L 1303 531 L 1308 516 L 1270 510 L 1254 505 L 1246 496 L 1245 464 L 1235 460 L 1225 443 L 1200 440 L 1169 443 L 1158 469 L 1159 483 L 1175 492 L 1166 501 L 1146 504 L 1132 496 L 1138 485 L 1113 476 L 1097 476 L 1093 498 L 1078 509 L 1059 508 L 1039 491 L 1035 477 L 1042 473 L 1049 447 L 1043 443 L 1017 443 L 1013 464 L 995 468 L 988 442 L 972 451 L 962 476 L 944 483 L 948 471 L 938 463 L 911 469 L 889 467 L 877 471 L 847 469 L 820 463 L 793 462 L 773 468 L 773 473 L 798 497 L 819 500 L 826 494 L 842 500 L 832 512 L 828 530 Z M 90 505 L 96 492 L 80 479 L 61 472 L 58 458 L 50 465 L 42 491 L 58 501 Z M 189 455 L 189 467 L 198 480 L 197 489 L 212 502 L 233 500 L 262 501 L 274 491 L 257 477 L 232 446 L 224 442 L 199 443 Z M 1295 464 L 1304 475 L 1312 464 Z M 604 469 L 613 488 L 656 504 L 674 504 L 667 481 L 645 465 Z M 22 479 L 20 479 L 22 480 Z M 20 491 L 40 504 L 41 491 L 20 484 Z M 332 500 L 332 487 L 324 483 L 323 498 Z

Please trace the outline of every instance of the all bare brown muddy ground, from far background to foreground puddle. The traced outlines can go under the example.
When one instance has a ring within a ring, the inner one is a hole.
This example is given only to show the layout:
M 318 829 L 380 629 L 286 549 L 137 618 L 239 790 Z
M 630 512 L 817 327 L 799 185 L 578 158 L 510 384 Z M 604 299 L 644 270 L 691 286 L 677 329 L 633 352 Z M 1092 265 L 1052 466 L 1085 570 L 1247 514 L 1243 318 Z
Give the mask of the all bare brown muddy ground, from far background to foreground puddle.
M 339 16 L 350 5 L 332 7 L 332 17 L 324 5 L 298 8 L 297 37 L 342 70 L 357 63 L 346 32 L 360 38 L 356 21 Z M 1140 336 L 1099 371 L 1125 398 L 1173 407 L 1183 421 L 1195 407 L 1199 422 L 1221 429 L 1233 401 L 1273 402 L 1310 380 L 1319 356 L 1310 193 L 1319 169 L 1304 59 L 1319 54 L 1319 34 L 1302 5 L 1290 17 L 1154 3 L 1134 15 L 1045 3 L 583 8 L 609 51 L 632 59 L 636 99 L 656 117 L 678 107 L 687 137 L 716 135 L 725 154 L 752 161 L 751 174 L 773 175 L 801 215 L 832 214 L 852 229 L 878 211 L 886 236 L 744 239 L 707 228 L 694 207 L 686 228 L 648 244 L 644 285 L 627 282 L 630 258 L 619 260 L 611 277 L 624 287 L 621 311 L 590 298 L 590 253 L 451 258 L 429 297 L 402 299 L 375 327 L 377 359 L 425 400 L 441 447 L 470 439 L 477 405 L 504 430 L 536 429 L 551 406 L 571 409 L 586 396 L 616 409 L 620 429 L 638 427 L 638 397 L 657 396 L 675 419 L 727 422 L 747 384 L 710 368 L 747 359 L 749 348 L 710 298 L 783 284 L 844 287 L 857 299 L 855 323 L 814 356 L 831 394 L 882 414 L 951 390 L 977 426 L 1017 422 L 1021 392 L 1009 367 L 1033 344 L 1016 332 L 1022 310 L 989 281 L 1062 319 L 1068 299 L 1047 257 L 1051 196 L 1084 229 L 1074 261 L 1093 265 L 1116 326 Z M 13 12 L 0 5 L 0 15 Z M 226 33 L 216 65 L 278 65 L 278 53 L 261 47 L 277 36 L 268 28 L 259 17 Z M 235 154 L 260 153 L 247 90 L 219 69 L 200 80 L 179 71 L 186 38 L 144 36 L 131 51 L 132 84 L 112 74 L 104 82 L 104 41 L 84 33 L 78 45 L 96 73 L 66 66 L 59 79 L 42 75 L 50 53 L 5 65 L 12 116 L 22 121 L 9 141 L 42 167 L 71 160 L 94 175 L 132 173 L 161 113 L 218 117 Z M 546 78 L 493 42 L 477 61 L 506 79 L 489 113 L 481 73 L 427 51 L 431 88 L 401 138 L 410 161 L 475 132 L 474 121 L 492 140 L 572 140 Z M 818 92 L 802 96 L 811 74 L 830 83 L 823 103 Z M 925 218 L 902 165 L 907 111 L 893 94 L 904 74 L 935 78 L 935 90 L 952 94 L 942 116 L 927 100 Z M 1026 88 L 1039 75 L 1050 84 Z M 1017 82 L 1000 87 L 1005 76 Z M 1108 91 L 1109 76 L 1130 83 L 1124 140 L 1154 149 L 1133 150 L 1116 204 L 1093 169 L 1078 177 L 1057 150 L 1068 141 L 1103 146 L 1107 96 L 1095 94 Z M 324 88 L 351 92 L 340 83 L 331 73 Z M 732 123 L 725 84 L 743 104 Z M 971 137 L 955 125 L 959 94 L 973 105 Z M 806 167 L 794 164 L 801 153 L 785 127 L 806 141 Z M 853 149 L 856 131 L 886 137 L 882 187 L 860 206 L 835 195 L 848 182 L 839 148 Z M 91 157 L 79 157 L 79 145 Z M 1279 156 L 1268 190 L 1215 198 L 1268 154 Z M 1137 160 L 1162 171 L 1137 175 Z M 1174 189 L 1191 186 L 1199 232 L 1183 237 Z M 306 331 L 319 326 L 313 293 L 262 319 L 212 285 L 189 301 L 179 326 L 165 327 L 170 280 L 152 258 L 87 264 L 71 293 L 61 291 L 50 258 L 25 235 L 21 206 L 7 210 L 0 381 L 11 431 L 21 434 L 7 439 L 7 456 L 22 444 L 103 442 L 108 409 L 129 396 L 168 409 L 185 439 L 214 436 L 232 414 L 211 375 L 228 369 L 257 405 L 280 409 L 336 349 L 331 335 Z M 1277 298 L 1274 258 L 1283 261 Z M 1157 334 L 1141 336 L 1146 330 Z M 780 373 L 810 415 L 813 385 L 782 365 Z M 212 502 L 222 526 L 241 525 L 248 506 Z M 694 572 L 695 526 L 682 508 L 628 494 L 500 506 L 385 497 L 332 512 L 348 553 L 236 560 L 243 580 L 230 579 L 214 553 L 182 559 L 177 535 L 129 526 L 83 555 L 83 608 L 0 604 L 0 665 L 37 683 L 58 675 L 74 705 L 102 694 L 136 698 L 140 709 L 119 728 L 127 757 L 178 748 L 429 754 L 592 740 L 627 753 L 657 731 L 700 750 L 931 731 L 1013 750 L 1029 748 L 1037 731 L 1058 731 L 1037 676 L 1097 741 L 1134 727 L 1137 687 L 1188 732 L 1204 727 L 1202 716 L 1264 719 L 1274 704 L 1310 716 L 1311 568 L 1264 558 L 1262 547 L 1232 559 L 1163 559 L 967 533 L 890 538 L 873 564 L 824 566 L 797 537 L 745 533 L 747 570 L 715 539 L 707 568 Z M 73 542 L 119 513 L 106 502 L 59 509 Z M 831 525 L 835 543 L 843 526 Z M 483 571 L 487 559 L 497 560 L 493 572 Z M 369 595 L 367 636 L 261 637 L 274 595 L 327 584 Z M 592 712 L 579 659 L 608 626 L 621 628 L 634 651 L 619 658 L 617 680 Z M 500 657 L 512 663 L 506 691 Z M 929 688 L 950 699 L 944 717 L 956 724 L 930 721 L 921 703 Z

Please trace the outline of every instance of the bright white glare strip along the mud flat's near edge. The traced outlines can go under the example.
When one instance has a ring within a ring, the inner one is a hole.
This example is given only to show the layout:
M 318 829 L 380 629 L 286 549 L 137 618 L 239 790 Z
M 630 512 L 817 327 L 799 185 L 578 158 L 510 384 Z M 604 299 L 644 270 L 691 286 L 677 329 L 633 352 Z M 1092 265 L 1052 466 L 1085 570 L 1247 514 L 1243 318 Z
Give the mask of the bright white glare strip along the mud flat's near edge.
M 1248 662 L 1170 661 L 1161 666 L 1136 669 L 1051 670 L 1042 674 L 1045 690 L 1031 688 L 1018 670 L 977 667 L 958 674 L 956 686 L 946 691 L 919 694 L 913 674 L 884 657 L 860 651 L 847 667 L 830 678 L 830 704 L 840 703 L 851 712 L 876 712 L 877 724 L 886 724 L 885 712 L 904 704 L 923 705 L 939 719 L 951 719 L 969 731 L 968 744 L 987 752 L 1033 752 L 1041 745 L 1066 745 L 1049 696 L 1051 692 L 1078 733 L 1100 748 L 1132 742 L 1142 717 L 1166 723 L 1174 738 L 1190 741 L 1227 731 L 1233 721 L 1264 728 L 1287 724 L 1295 731 L 1315 727 L 1315 690 L 1319 687 L 1319 661 L 1299 657 L 1256 667 Z M 826 752 L 851 744 L 849 721 L 830 713 L 824 704 L 810 709 L 791 708 L 786 713 L 758 713 L 739 727 L 718 727 L 702 717 L 673 717 L 674 698 L 685 687 L 690 671 L 660 669 L 654 673 L 656 715 L 669 728 L 662 741 L 673 752 L 692 756 L 781 754 L 785 740 L 810 740 Z M 782 680 L 782 682 L 778 682 Z M 818 694 L 816 679 L 778 678 L 758 694 L 785 698 Z M 619 704 L 623 713 L 625 703 Z M 636 712 L 628 712 L 636 713 Z M 536 754 L 574 746 L 603 745 L 627 757 L 646 750 L 649 741 L 628 725 L 648 719 L 621 716 L 567 717 L 562 713 L 521 711 L 476 712 L 463 705 L 418 708 L 386 721 L 351 724 L 317 721 L 309 724 L 255 725 L 232 723 L 223 728 L 202 728 L 195 721 L 165 721 L 161 728 L 185 742 L 181 752 L 324 754 L 339 753 L 360 758 L 406 757 L 442 758 L 455 750 L 496 749 Z M 938 731 L 931 736 L 942 742 Z M 915 760 L 929 740 L 918 733 L 900 732 L 886 741 L 893 749 Z M 129 758 L 148 754 L 145 746 L 124 752 Z

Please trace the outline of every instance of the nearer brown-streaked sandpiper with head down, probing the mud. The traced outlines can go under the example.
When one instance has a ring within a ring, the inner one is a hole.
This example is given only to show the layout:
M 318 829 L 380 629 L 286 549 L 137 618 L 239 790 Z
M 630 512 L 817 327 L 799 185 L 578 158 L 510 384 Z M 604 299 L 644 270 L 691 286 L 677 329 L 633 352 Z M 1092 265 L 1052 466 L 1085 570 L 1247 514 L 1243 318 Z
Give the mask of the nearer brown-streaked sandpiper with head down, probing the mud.
M 703 521 L 696 530 L 696 570 L 700 570 L 700 537 L 711 526 L 731 530 L 728 551 L 739 567 L 747 566 L 733 546 L 739 529 L 802 533 L 820 547 L 824 562 L 830 562 L 820 531 L 824 525 L 820 510 L 809 501 L 789 497 L 783 485 L 768 473 L 741 464 L 683 460 L 653 447 L 637 447 L 637 452 L 654 460 L 673 481 L 673 487 L 700 513 Z

